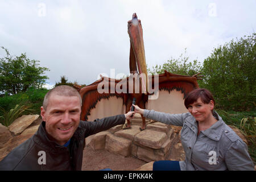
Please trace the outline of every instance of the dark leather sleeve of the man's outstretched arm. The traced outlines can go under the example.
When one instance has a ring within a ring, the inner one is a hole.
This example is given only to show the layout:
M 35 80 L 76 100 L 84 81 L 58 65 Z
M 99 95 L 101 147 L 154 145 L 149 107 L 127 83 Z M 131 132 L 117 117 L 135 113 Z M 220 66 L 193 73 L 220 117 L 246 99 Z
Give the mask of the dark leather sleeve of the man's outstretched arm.
M 95 119 L 92 121 L 81 121 L 80 127 L 85 129 L 84 137 L 108 130 L 116 125 L 123 125 L 125 123 L 125 114 L 114 115 L 102 119 Z

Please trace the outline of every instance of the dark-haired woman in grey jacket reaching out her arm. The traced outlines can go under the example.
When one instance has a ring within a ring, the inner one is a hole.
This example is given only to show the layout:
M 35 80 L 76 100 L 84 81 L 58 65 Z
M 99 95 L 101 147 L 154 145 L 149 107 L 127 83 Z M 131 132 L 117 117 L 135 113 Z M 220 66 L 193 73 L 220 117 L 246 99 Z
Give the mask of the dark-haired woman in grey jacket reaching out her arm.
M 213 110 L 215 102 L 209 90 L 193 90 L 184 104 L 189 113 L 160 113 L 134 105 L 134 111 L 146 118 L 183 126 L 185 161 L 155 162 L 153 170 L 254 170 L 246 144 Z

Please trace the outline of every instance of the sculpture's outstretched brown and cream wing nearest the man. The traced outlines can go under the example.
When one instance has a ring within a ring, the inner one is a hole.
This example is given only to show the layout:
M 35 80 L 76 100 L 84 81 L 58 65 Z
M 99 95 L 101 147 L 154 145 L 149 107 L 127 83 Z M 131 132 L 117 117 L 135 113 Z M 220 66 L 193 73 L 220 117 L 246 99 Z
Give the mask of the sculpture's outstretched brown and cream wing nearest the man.
M 82 97 L 82 121 L 125 113 L 126 94 L 118 93 L 117 87 L 125 90 L 125 79 L 115 80 L 102 77 L 79 90 Z M 123 88 L 122 88 L 123 87 Z M 114 91 L 113 91 L 114 90 Z M 111 97 L 111 99 L 109 99 Z

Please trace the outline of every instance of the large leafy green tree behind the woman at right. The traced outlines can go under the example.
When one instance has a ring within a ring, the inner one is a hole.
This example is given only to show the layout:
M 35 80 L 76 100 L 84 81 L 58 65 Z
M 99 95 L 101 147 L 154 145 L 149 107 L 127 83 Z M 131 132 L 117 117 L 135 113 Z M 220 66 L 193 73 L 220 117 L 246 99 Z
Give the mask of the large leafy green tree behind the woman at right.
M 214 49 L 203 64 L 203 87 L 222 109 L 255 109 L 256 34 L 231 40 Z

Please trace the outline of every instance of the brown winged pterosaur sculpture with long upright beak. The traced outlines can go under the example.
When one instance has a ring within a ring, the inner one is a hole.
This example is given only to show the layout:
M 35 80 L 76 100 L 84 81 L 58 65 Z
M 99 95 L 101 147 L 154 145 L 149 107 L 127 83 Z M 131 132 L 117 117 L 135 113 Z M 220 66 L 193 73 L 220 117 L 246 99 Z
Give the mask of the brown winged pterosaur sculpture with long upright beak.
M 83 88 L 77 88 L 82 97 L 81 120 L 93 121 L 96 118 L 127 113 L 133 98 L 136 98 L 136 104 L 142 109 L 155 109 L 168 113 L 187 111 L 183 104 L 184 98 L 188 92 L 199 88 L 197 79 L 201 79 L 199 78 L 201 76 L 198 76 L 200 73 L 194 76 L 184 76 L 164 71 L 160 75 L 148 76 L 141 20 L 138 20 L 136 13 L 128 21 L 128 34 L 130 37 L 130 76 L 119 80 L 101 76 L 100 80 Z M 148 89 L 150 86 L 151 90 Z M 154 95 L 152 90 L 154 90 Z M 144 130 L 146 128 L 145 118 L 143 115 L 141 117 L 142 127 L 140 129 Z M 131 122 L 127 121 L 124 129 L 130 127 Z

